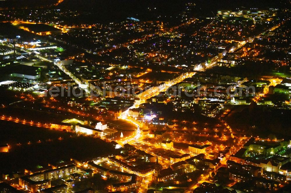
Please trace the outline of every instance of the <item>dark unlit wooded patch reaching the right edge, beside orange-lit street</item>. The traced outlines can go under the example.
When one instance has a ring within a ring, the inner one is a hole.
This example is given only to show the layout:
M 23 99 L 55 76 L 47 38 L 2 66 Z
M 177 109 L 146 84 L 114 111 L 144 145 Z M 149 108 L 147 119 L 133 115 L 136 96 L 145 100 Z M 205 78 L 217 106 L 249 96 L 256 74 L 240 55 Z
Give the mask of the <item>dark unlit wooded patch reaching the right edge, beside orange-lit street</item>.
M 277 139 L 285 140 L 291 138 L 290 110 L 252 105 L 238 111 L 235 109 L 225 120 L 237 134 L 248 133 L 262 138 L 276 136 Z

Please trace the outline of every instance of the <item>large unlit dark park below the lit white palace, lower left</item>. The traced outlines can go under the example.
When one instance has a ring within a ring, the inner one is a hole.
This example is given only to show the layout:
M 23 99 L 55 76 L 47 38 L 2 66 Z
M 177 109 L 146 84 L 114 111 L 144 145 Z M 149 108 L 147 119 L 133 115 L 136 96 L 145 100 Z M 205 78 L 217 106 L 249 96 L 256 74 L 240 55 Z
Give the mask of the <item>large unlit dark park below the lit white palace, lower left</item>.
M 26 167 L 114 153 L 112 146 L 101 139 L 7 121 L 0 121 L 0 124 L 0 144 L 8 143 L 12 147 L 9 153 L 0 153 L 1 173 L 23 172 Z

